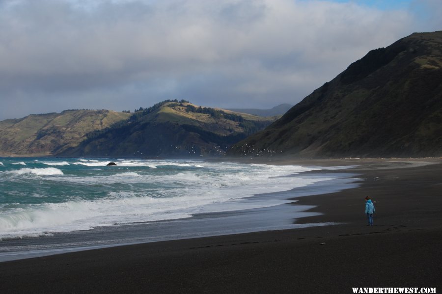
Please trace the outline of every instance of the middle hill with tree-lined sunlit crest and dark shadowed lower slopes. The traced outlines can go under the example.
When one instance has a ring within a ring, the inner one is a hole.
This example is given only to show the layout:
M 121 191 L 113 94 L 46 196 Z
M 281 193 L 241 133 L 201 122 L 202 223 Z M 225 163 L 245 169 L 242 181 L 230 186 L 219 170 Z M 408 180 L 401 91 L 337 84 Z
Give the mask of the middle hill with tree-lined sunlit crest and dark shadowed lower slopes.
M 60 156 L 200 157 L 221 155 L 232 144 L 270 125 L 264 118 L 187 101 L 140 108 L 127 121 L 87 134 Z

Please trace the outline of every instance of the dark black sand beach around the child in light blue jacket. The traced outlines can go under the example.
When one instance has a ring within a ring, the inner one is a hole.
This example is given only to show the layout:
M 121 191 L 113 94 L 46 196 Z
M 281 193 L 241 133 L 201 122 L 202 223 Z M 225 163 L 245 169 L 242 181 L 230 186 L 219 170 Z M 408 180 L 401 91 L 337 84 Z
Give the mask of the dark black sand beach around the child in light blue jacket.
M 3 262 L 0 292 L 353 293 L 352 287 L 436 287 L 439 293 L 442 160 L 406 161 L 297 161 L 359 165 L 351 171 L 362 179 L 360 187 L 294 199 L 322 213 L 299 222 L 339 225 Z M 363 213 L 367 195 L 377 210 L 372 227 Z

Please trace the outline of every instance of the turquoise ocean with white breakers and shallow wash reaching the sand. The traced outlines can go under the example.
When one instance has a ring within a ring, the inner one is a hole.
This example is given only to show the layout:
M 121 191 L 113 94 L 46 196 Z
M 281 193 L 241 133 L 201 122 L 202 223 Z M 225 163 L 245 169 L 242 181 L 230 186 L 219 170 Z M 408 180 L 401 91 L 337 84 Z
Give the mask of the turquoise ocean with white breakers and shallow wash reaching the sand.
M 109 162 L 116 166 L 107 166 Z M 341 170 L 348 167 L 334 167 Z M 0 261 L 286 229 L 295 196 L 356 187 L 324 167 L 205 160 L 0 158 Z M 330 169 L 330 168 L 328 168 Z

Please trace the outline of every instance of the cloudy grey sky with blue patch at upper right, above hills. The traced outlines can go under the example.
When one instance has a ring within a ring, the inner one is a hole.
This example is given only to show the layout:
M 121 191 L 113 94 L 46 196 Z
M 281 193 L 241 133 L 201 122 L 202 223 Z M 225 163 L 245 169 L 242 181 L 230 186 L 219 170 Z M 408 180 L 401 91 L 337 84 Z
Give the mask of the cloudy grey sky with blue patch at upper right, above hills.
M 295 105 L 441 15 L 441 0 L 0 0 L 0 120 Z

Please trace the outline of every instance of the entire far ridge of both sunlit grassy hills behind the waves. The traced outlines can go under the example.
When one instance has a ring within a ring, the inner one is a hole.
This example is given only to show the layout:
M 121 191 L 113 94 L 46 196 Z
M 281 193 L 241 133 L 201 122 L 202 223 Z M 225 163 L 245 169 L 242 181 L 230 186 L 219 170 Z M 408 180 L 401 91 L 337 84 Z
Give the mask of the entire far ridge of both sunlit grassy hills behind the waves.
M 166 100 L 134 113 L 70 109 L 30 114 L 0 121 L 0 156 L 219 156 L 278 117 L 184 100 Z

